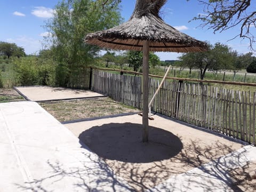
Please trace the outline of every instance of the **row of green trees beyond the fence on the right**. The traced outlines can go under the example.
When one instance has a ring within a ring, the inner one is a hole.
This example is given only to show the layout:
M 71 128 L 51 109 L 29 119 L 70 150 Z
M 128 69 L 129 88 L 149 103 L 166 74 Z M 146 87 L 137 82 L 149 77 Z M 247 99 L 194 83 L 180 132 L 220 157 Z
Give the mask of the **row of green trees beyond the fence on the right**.
M 209 44 L 208 51 L 182 54 L 179 61 L 173 61 L 172 65 L 188 68 L 190 73 L 192 69 L 199 69 L 200 78 L 204 79 L 207 70 L 218 73 L 220 70 L 238 71 L 247 69 L 248 73 L 256 73 L 256 70 L 254 71 L 251 67 L 254 65 L 254 60 L 255 57 L 252 56 L 251 52 L 238 54 L 228 45 L 215 43 L 214 45 Z

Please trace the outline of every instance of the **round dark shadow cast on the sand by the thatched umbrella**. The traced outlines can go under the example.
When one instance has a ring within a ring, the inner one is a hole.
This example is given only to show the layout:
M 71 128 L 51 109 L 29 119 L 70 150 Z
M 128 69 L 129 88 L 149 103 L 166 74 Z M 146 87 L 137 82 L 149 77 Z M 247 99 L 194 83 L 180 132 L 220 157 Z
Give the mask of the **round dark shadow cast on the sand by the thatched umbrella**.
M 142 125 L 110 123 L 91 127 L 79 139 L 102 158 L 129 163 L 162 161 L 177 155 L 181 140 L 171 132 L 149 127 L 149 142 L 142 143 Z

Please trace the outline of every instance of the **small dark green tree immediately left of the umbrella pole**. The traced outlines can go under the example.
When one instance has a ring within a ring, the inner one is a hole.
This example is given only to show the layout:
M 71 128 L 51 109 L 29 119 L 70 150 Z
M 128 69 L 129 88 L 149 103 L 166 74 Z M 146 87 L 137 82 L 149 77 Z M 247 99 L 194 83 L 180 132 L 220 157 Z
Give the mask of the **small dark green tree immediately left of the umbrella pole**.
M 133 67 L 134 71 L 138 71 L 138 69 L 142 66 L 143 63 L 143 55 L 141 51 L 128 51 L 127 52 L 127 60 L 130 67 Z

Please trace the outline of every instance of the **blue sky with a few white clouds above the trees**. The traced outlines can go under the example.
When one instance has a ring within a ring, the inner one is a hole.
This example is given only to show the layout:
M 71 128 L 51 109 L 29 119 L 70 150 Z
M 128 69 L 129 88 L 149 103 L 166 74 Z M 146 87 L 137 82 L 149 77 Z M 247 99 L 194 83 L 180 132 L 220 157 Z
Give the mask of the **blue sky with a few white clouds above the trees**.
M 45 21 L 52 17 L 54 6 L 59 0 L 1 0 L 0 1 L 0 41 L 16 43 L 22 46 L 27 54 L 37 53 L 42 49 L 43 36 L 46 29 Z M 135 0 L 123 0 L 121 14 L 125 21 L 133 12 Z M 252 2 L 255 9 L 256 3 Z M 198 21 L 191 21 L 193 17 L 203 13 L 203 6 L 196 0 L 169 0 L 161 10 L 161 17 L 169 25 L 179 29 L 182 33 L 190 35 L 201 41 L 209 41 L 211 44 L 220 42 L 229 45 L 238 53 L 247 53 L 249 42 L 240 38 L 228 41 L 239 31 L 235 27 L 223 33 L 213 34 L 212 30 L 200 28 Z M 255 29 L 252 29 L 255 30 Z M 161 60 L 174 60 L 178 53 L 157 52 Z

